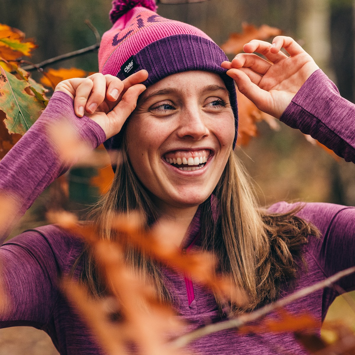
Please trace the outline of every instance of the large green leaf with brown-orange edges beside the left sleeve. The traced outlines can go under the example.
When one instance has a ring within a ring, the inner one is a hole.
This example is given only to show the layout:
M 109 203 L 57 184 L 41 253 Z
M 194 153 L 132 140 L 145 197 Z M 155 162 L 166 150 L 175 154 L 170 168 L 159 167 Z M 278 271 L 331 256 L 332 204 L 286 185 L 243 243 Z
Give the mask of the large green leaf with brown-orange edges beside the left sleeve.
M 31 89 L 27 81 L 0 67 L 0 108 L 6 114 L 4 123 L 9 133 L 26 133 L 45 108 L 26 88 Z

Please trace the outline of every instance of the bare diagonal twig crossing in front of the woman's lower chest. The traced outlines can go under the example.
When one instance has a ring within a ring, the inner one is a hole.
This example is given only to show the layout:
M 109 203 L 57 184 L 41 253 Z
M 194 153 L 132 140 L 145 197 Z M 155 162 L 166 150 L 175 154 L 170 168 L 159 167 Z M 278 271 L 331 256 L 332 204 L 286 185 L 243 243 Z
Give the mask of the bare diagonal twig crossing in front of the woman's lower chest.
M 295 293 L 280 299 L 278 301 L 275 301 L 271 304 L 268 304 L 252 313 L 247 313 L 245 315 L 242 315 L 238 318 L 231 319 L 228 321 L 224 322 L 218 322 L 214 324 L 209 324 L 205 327 L 196 329 L 195 331 L 192 331 L 190 333 L 184 334 L 181 337 L 175 339 L 171 345 L 173 345 L 174 348 L 179 349 L 187 344 L 191 343 L 193 340 L 204 337 L 205 335 L 220 332 L 226 329 L 231 329 L 231 328 L 239 328 L 241 326 L 244 326 L 246 323 L 256 321 L 264 316 L 266 316 L 268 313 L 275 311 L 279 308 L 282 308 L 286 306 L 287 304 L 300 299 L 301 297 L 307 296 L 315 291 L 321 290 L 323 288 L 332 286 L 335 282 L 340 280 L 341 278 L 348 276 L 350 274 L 355 273 L 355 267 L 351 267 L 349 269 L 340 271 L 333 276 L 318 282 L 314 285 L 305 287 L 299 291 L 296 291 Z

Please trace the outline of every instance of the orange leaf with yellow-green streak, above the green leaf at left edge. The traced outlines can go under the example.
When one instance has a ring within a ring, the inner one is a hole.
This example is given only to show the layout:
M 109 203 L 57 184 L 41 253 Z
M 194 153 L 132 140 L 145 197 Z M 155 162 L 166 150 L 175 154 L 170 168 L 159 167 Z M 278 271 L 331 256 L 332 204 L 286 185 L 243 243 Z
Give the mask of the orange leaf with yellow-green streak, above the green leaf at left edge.
M 6 60 L 15 60 L 26 55 L 38 46 L 32 40 L 25 42 L 25 34 L 17 28 L 0 24 L 0 56 Z

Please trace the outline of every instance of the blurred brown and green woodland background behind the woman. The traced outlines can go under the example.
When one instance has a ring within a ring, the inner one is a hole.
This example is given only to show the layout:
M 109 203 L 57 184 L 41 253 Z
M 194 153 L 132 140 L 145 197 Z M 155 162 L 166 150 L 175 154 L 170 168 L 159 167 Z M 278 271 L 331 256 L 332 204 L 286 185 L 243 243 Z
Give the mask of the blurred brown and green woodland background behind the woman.
M 355 100 L 354 92 L 354 6 L 353 0 L 208 0 L 196 4 L 159 4 L 164 17 L 190 23 L 222 45 L 243 22 L 277 27 L 295 38 L 337 84 L 340 94 Z M 56 55 L 95 43 L 84 20 L 91 21 L 102 35 L 111 26 L 109 0 L 0 0 L 0 23 L 21 29 L 39 48 L 31 61 L 38 63 Z M 78 67 L 97 71 L 97 53 L 62 61 L 51 67 Z M 33 73 L 36 76 L 36 73 Z M 258 124 L 259 136 L 237 149 L 255 180 L 262 205 L 280 200 L 319 201 L 355 205 L 355 166 L 334 159 L 309 143 L 301 132 L 280 124 L 273 131 L 266 122 Z M 45 191 L 22 218 L 12 235 L 44 222 L 46 205 L 57 201 L 81 210 L 99 195 L 88 181 L 91 169 L 71 171 L 68 176 L 70 203 Z M 351 295 L 353 296 L 353 295 Z M 340 316 L 354 323 L 354 311 L 338 299 L 328 317 Z M 44 332 L 32 328 L 0 331 L 0 355 L 56 354 Z

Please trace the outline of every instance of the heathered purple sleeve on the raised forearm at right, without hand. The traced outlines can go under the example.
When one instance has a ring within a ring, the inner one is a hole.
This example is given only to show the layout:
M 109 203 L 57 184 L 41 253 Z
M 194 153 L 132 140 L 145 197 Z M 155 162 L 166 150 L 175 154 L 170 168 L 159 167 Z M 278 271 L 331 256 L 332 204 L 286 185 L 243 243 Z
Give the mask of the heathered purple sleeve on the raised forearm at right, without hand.
M 311 135 L 345 161 L 355 163 L 355 105 L 340 96 L 321 70 L 307 79 L 280 121 Z

